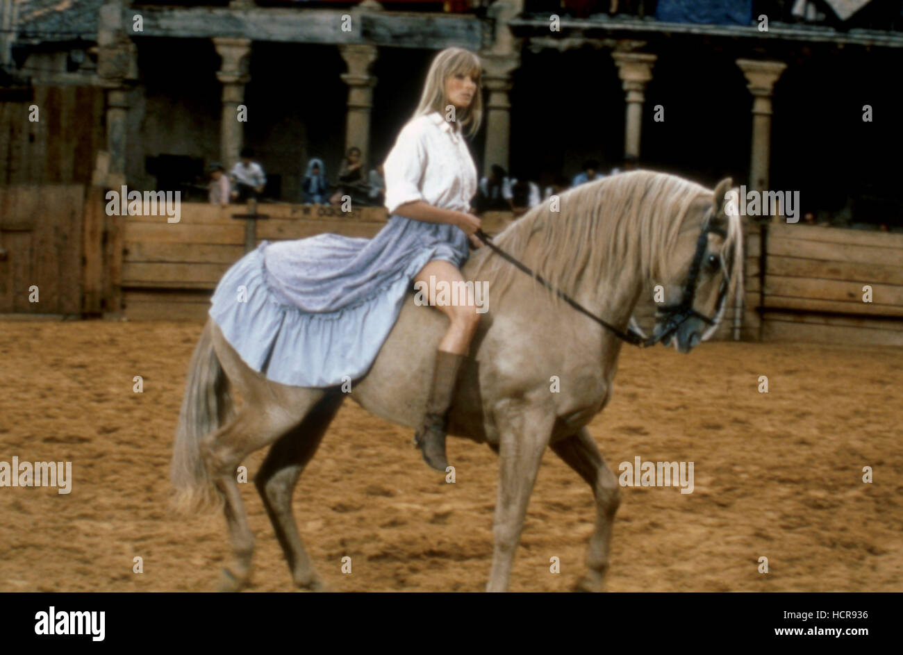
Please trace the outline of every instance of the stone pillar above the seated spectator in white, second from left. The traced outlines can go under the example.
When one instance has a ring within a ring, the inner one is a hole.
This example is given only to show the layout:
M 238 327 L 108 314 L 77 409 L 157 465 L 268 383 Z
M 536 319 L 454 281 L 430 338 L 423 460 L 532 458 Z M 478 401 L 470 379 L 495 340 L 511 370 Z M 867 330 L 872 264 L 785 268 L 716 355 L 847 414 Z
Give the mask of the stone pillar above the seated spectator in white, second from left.
M 244 124 L 238 121 L 238 105 L 245 101 L 245 85 L 251 55 L 250 39 L 214 37 L 213 45 L 222 59 L 217 79 L 222 82 L 222 115 L 219 124 L 219 157 L 228 172 L 238 161 L 244 141 Z

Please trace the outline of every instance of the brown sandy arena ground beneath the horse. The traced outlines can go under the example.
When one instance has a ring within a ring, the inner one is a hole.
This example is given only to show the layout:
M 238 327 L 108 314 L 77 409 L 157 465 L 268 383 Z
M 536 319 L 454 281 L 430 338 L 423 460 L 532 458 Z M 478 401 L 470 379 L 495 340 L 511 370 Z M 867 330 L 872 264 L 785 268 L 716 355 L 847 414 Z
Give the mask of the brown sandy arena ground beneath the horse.
M 229 558 L 222 518 L 186 521 L 166 505 L 199 333 L 184 323 L 0 323 L 0 461 L 70 461 L 74 479 L 68 495 L 0 488 L 0 591 L 216 587 Z M 694 462 L 695 489 L 623 490 L 610 591 L 903 591 L 901 371 L 901 349 L 626 349 L 591 433 L 616 470 L 637 455 Z M 135 375 L 144 393 L 133 392 Z M 760 375 L 768 394 L 757 390 Z M 486 584 L 496 456 L 451 440 L 458 480 L 445 484 L 410 439 L 347 402 L 298 485 L 303 538 L 336 590 Z M 262 455 L 247 462 L 252 476 Z M 861 482 L 866 465 L 870 484 Z M 289 591 L 253 484 L 242 486 L 257 539 L 253 589 Z M 547 453 L 512 591 L 569 590 L 593 516 L 589 488 Z M 351 575 L 340 570 L 345 556 Z

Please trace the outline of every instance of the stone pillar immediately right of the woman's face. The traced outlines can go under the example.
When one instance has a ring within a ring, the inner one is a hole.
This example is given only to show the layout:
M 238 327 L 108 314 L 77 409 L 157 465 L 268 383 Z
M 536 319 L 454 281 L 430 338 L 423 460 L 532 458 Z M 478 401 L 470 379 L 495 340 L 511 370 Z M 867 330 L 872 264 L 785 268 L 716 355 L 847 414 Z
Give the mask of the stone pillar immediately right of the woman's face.
M 483 109 L 486 124 L 486 150 L 483 154 L 484 174 L 493 164 L 498 164 L 507 173 L 511 149 L 511 73 L 520 66 L 516 54 L 496 54 L 483 52 L 479 55 L 483 64 L 483 88 L 489 93 Z

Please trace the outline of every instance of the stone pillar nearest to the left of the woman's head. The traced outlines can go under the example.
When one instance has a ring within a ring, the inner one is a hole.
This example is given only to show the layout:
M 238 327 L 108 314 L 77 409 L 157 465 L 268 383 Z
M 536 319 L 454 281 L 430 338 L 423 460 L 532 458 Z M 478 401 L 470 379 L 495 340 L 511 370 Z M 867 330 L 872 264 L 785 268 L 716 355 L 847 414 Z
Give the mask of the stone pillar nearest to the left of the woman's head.
M 373 88 L 377 85 L 371 72 L 379 53 L 374 45 L 358 43 L 340 45 L 339 51 L 348 64 L 348 72 L 341 74 L 341 80 L 348 85 L 345 151 L 352 145 L 360 148 L 360 161 L 366 172 L 369 168 L 370 108 L 373 107 Z

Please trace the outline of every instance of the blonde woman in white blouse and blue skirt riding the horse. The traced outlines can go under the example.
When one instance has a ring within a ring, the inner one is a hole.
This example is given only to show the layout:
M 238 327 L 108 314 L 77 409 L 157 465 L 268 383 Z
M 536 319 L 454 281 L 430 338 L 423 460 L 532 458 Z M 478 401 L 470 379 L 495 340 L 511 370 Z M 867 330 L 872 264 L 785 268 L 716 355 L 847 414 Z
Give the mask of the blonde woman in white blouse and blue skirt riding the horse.
M 358 379 L 395 325 L 412 282 L 434 292 L 441 282 L 463 280 L 468 239 L 480 245 L 473 236 L 479 219 L 470 214 L 477 169 L 464 141 L 482 117 L 479 78 L 473 52 L 448 48 L 433 59 L 414 116 L 383 164 L 390 216 L 376 237 L 264 242 L 222 278 L 210 315 L 254 370 L 298 387 Z M 450 323 L 414 440 L 424 461 L 444 472 L 447 413 L 479 314 L 472 302 L 429 300 Z

